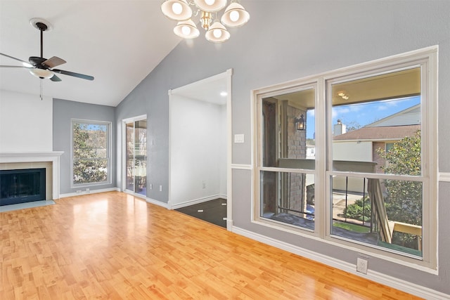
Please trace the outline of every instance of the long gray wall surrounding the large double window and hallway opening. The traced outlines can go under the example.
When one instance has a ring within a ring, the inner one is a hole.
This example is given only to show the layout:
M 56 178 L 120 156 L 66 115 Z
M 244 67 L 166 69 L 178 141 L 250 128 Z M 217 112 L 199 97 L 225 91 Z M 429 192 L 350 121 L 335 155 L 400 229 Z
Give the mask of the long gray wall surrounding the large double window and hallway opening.
M 148 183 L 167 187 L 169 97 L 167 90 L 233 68 L 233 164 L 250 164 L 250 90 L 335 70 L 368 60 L 439 45 L 439 171 L 450 172 L 450 1 L 241 1 L 251 18 L 230 30 L 224 44 L 203 37 L 181 41 L 172 53 L 125 98 L 116 111 L 117 124 L 134 115 L 148 115 L 155 145 L 149 145 Z M 169 20 L 167 20 L 169 22 Z M 167 32 L 172 34 L 172 32 Z M 149 138 L 150 140 L 150 138 Z M 282 233 L 250 222 L 251 172 L 233 170 L 233 225 L 289 242 L 313 252 L 355 263 L 356 252 Z M 450 253 L 446 228 L 450 221 L 446 195 L 450 183 L 439 185 L 439 275 L 371 258 L 372 270 L 450 294 Z M 167 188 L 148 197 L 167 202 Z

